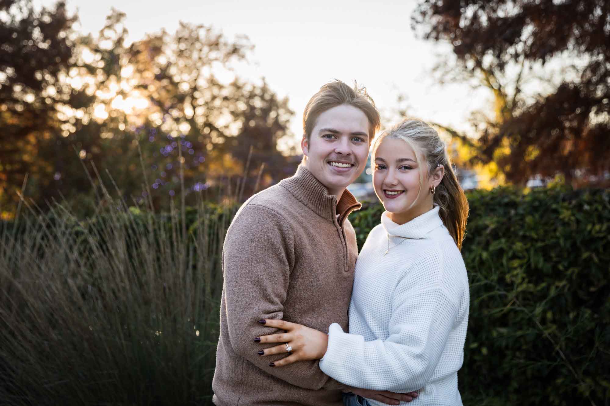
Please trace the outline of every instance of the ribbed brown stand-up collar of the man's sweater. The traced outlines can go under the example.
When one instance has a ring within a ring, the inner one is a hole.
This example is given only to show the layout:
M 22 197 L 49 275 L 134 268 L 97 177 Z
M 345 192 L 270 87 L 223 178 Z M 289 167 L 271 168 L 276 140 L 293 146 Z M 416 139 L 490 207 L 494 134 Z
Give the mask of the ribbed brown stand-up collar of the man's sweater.
M 294 176 L 282 180 L 279 184 L 321 217 L 332 221 L 339 214 L 339 224 L 342 224 L 351 212 L 362 207 L 347 189 L 337 203 L 337 196 L 329 194 L 325 185 L 304 165 L 299 165 Z

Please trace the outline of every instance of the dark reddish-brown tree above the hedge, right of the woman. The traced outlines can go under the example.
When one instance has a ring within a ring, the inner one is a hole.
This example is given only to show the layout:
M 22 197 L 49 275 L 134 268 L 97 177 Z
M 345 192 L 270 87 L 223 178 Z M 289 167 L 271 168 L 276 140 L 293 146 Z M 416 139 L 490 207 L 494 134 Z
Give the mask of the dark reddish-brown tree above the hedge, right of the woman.
M 451 79 L 476 78 L 493 92 L 494 116 L 474 118 L 473 162 L 495 162 L 517 184 L 608 174 L 610 1 L 425 0 L 413 23 L 451 45 Z

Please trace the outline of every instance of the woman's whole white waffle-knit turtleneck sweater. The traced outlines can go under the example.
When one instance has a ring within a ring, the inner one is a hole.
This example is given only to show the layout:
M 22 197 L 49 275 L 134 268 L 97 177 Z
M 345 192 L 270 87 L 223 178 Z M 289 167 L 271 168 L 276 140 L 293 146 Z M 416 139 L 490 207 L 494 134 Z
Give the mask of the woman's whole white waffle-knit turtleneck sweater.
M 331 324 L 320 368 L 356 388 L 422 389 L 417 399 L 401 404 L 461 405 L 457 371 L 470 297 L 464 260 L 439 207 L 401 226 L 388 214 L 371 230 L 356 262 L 350 333 Z

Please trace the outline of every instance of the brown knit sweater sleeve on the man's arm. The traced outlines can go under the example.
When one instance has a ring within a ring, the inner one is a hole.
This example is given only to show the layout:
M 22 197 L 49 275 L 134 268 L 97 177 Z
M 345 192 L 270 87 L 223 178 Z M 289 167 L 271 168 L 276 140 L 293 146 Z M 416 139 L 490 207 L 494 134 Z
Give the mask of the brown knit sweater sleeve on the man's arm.
M 229 341 L 236 354 L 267 374 L 301 388 L 318 390 L 329 383 L 319 361 L 282 368 L 269 366 L 285 354 L 261 357 L 258 351 L 277 344 L 257 344 L 260 335 L 278 332 L 260 319 L 284 318 L 284 301 L 294 265 L 294 236 L 289 224 L 270 208 L 248 204 L 235 217 L 223 247 L 224 302 Z

